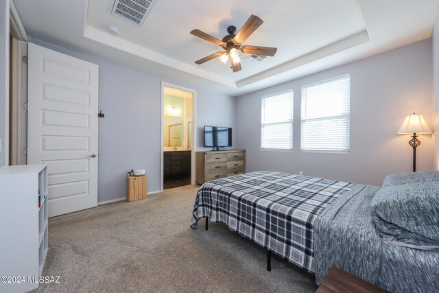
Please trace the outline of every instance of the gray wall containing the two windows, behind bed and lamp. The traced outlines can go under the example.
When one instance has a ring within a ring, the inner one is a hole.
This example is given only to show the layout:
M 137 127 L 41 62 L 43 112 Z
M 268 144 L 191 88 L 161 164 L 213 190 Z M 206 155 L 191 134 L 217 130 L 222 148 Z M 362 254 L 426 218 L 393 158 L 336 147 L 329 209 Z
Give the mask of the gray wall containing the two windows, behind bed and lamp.
M 300 152 L 300 86 L 351 73 L 351 152 Z M 261 150 L 261 96 L 294 89 L 294 150 Z M 247 172 L 271 169 L 381 185 L 384 177 L 412 170 L 409 135 L 395 134 L 406 115 L 423 114 L 433 126 L 431 40 L 237 97 L 237 148 Z M 431 135 L 421 135 L 418 170 L 433 167 Z

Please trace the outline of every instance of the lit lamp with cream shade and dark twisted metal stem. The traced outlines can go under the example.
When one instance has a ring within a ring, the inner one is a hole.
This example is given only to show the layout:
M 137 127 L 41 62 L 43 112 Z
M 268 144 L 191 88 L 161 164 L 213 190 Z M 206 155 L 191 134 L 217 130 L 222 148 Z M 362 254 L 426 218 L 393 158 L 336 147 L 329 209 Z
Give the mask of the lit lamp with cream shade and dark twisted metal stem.
M 423 115 L 415 114 L 407 115 L 403 122 L 403 126 L 399 128 L 397 134 L 412 134 L 409 144 L 413 148 L 413 172 L 416 172 L 416 147 L 420 145 L 418 134 L 431 134 L 430 128 L 425 123 Z

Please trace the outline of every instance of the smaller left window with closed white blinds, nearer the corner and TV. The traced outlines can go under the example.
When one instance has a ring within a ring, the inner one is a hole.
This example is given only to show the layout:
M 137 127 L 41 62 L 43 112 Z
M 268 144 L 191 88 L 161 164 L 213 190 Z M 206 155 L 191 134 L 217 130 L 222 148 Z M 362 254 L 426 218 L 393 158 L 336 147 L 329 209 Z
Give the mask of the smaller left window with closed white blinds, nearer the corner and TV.
M 261 99 L 261 148 L 292 150 L 293 91 Z

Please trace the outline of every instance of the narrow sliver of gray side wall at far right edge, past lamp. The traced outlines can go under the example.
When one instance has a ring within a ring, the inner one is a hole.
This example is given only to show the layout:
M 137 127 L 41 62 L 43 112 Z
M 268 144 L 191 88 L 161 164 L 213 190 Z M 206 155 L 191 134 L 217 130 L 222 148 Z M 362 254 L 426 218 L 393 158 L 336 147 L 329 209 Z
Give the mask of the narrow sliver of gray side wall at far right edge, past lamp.
M 439 170 L 439 14 L 431 36 L 433 45 L 433 105 L 434 105 L 434 160 L 433 168 Z

